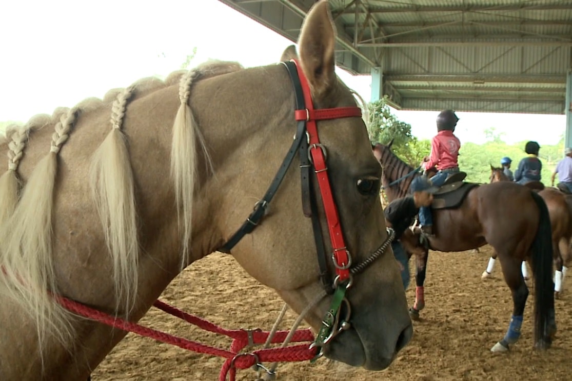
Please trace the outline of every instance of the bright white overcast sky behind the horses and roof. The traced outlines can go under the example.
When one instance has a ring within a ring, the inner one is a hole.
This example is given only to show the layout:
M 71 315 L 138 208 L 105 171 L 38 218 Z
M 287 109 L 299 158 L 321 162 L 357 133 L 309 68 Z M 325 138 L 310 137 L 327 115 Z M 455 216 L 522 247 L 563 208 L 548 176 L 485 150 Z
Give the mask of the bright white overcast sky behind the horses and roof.
M 99 0 L 0 3 L 0 121 L 26 121 L 58 106 L 103 97 L 149 76 L 217 58 L 244 66 L 279 60 L 291 42 L 218 0 Z M 340 77 L 370 100 L 370 77 Z M 435 134 L 435 112 L 395 111 L 419 138 Z M 556 144 L 565 116 L 459 112 L 461 141 L 484 142 L 494 126 L 507 142 Z

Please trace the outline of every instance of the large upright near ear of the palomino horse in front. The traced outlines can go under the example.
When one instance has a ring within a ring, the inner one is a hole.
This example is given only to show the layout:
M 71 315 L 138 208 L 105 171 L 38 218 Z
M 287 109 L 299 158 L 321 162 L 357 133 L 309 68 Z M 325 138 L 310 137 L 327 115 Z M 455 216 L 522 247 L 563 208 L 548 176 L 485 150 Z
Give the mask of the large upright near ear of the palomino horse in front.
M 312 6 L 302 26 L 298 47 L 300 64 L 316 99 L 323 97 L 336 84 L 333 29 L 327 0 Z

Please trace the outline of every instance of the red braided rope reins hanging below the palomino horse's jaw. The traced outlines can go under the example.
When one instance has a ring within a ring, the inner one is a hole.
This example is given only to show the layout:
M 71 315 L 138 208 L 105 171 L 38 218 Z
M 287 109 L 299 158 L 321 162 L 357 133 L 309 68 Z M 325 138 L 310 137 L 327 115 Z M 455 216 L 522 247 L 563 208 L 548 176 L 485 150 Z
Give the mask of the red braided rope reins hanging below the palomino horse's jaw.
M 257 350 L 249 353 L 240 353 L 244 347 L 250 344 L 263 344 L 269 336 L 269 332 L 260 330 L 246 331 L 246 330 L 225 330 L 220 328 L 207 320 L 198 318 L 197 316 L 189 315 L 169 304 L 160 300 L 155 301 L 153 304 L 158 309 L 176 316 L 185 322 L 193 324 L 203 330 L 214 332 L 232 338 L 232 344 L 229 351 L 221 350 L 215 347 L 205 346 L 204 344 L 193 342 L 178 336 L 166 334 L 165 332 L 153 330 L 152 328 L 141 326 L 137 323 L 128 322 L 121 318 L 110 316 L 104 312 L 97 311 L 97 309 L 90 308 L 84 304 L 78 303 L 67 299 L 63 296 L 54 296 L 54 298 L 63 307 L 78 315 L 84 316 L 96 322 L 106 324 L 108 326 L 118 328 L 120 330 L 134 332 L 141 336 L 155 339 L 162 343 L 172 344 L 174 346 L 183 348 L 188 351 L 198 352 L 207 355 L 214 355 L 224 357 L 226 360 L 223 364 L 219 375 L 219 381 L 225 381 L 227 374 L 230 375 L 230 381 L 234 381 L 236 377 L 236 369 L 246 369 L 253 365 L 263 362 L 299 362 L 310 360 L 316 355 L 316 350 L 310 350 L 308 344 L 299 344 L 297 346 L 285 348 L 268 348 Z M 277 331 L 272 338 L 272 343 L 281 343 L 284 341 L 289 331 Z M 312 331 L 307 328 L 305 330 L 297 330 L 292 337 L 292 342 L 312 342 L 314 340 Z

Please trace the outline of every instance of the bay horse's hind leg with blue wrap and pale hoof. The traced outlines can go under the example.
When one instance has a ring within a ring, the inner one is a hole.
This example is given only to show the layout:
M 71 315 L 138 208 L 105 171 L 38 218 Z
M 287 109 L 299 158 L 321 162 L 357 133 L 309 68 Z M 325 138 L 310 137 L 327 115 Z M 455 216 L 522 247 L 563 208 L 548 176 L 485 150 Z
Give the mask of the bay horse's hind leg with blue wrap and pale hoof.
M 510 319 L 509 330 L 505 337 L 496 343 L 491 352 L 505 352 L 509 350 L 509 344 L 514 344 L 521 336 L 522 315 L 525 311 L 526 299 L 529 296 L 529 288 L 526 287 L 522 277 L 522 260 L 509 257 L 509 254 L 499 256 L 501 267 L 507 285 L 513 294 L 513 316 Z

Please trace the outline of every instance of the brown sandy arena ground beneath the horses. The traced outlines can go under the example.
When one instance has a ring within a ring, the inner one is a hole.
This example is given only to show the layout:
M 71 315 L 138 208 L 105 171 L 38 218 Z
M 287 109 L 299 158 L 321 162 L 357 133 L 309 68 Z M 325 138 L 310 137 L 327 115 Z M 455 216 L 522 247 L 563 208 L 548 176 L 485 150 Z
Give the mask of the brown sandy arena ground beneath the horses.
M 385 371 L 368 372 L 320 359 L 315 364 L 288 363 L 277 380 L 571 380 L 572 296 L 556 301 L 557 338 L 546 352 L 533 350 L 533 288 L 525 310 L 519 342 L 508 354 L 490 348 L 508 327 L 513 302 L 497 264 L 495 277 L 481 280 L 491 248 L 480 253 L 430 252 L 425 283 L 426 308 L 414 322 L 414 338 Z M 414 261 L 411 261 L 414 266 Z M 230 271 L 232 268 L 232 271 Z M 415 282 L 407 290 L 415 300 Z M 529 283 L 530 285 L 530 283 Z M 567 283 L 572 287 L 572 281 Z M 208 295 L 205 297 L 205 295 Z M 165 290 L 161 300 L 229 329 L 270 330 L 283 303 L 271 290 L 249 277 L 231 256 L 215 253 L 193 264 Z M 295 316 L 289 312 L 282 329 Z M 189 326 L 152 308 L 144 326 L 209 346 L 227 349 L 231 341 Z M 93 381 L 217 380 L 223 359 L 129 334 L 93 372 Z M 255 380 L 252 370 L 237 372 L 237 380 Z

